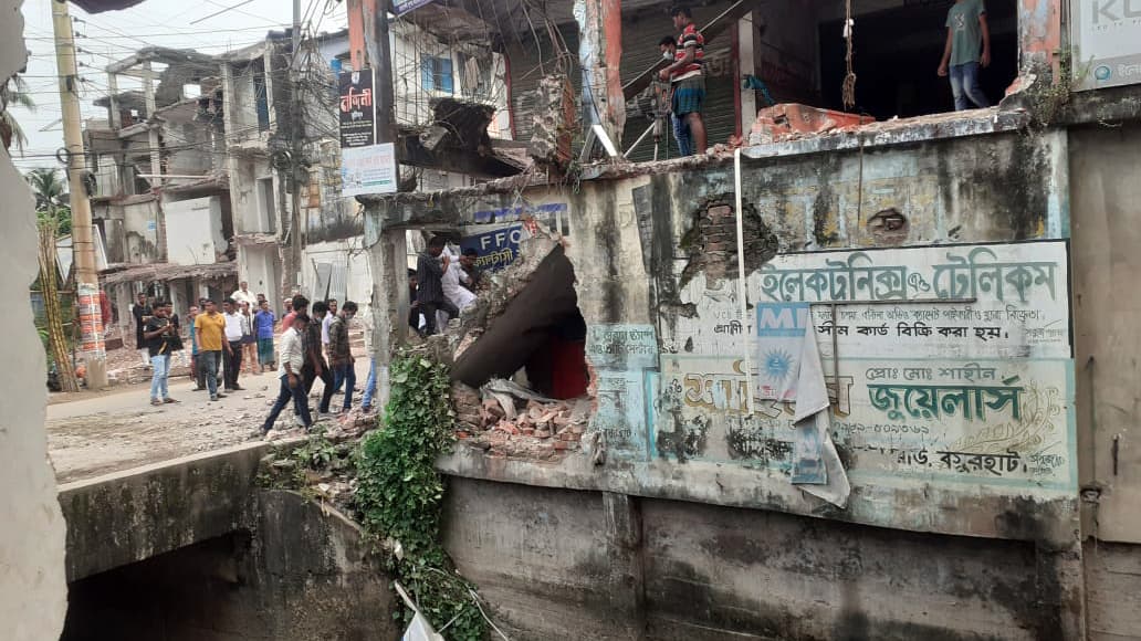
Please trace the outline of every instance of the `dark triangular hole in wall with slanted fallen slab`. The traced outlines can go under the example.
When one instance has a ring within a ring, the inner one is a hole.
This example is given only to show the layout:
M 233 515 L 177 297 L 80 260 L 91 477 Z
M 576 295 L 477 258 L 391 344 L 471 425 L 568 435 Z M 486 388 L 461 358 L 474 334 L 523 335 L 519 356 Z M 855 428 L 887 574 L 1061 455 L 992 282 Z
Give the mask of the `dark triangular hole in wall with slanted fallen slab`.
M 515 379 L 558 399 L 586 393 L 586 323 L 574 283 L 574 266 L 556 245 L 502 314 L 455 359 L 452 379 L 474 388 L 491 379 Z

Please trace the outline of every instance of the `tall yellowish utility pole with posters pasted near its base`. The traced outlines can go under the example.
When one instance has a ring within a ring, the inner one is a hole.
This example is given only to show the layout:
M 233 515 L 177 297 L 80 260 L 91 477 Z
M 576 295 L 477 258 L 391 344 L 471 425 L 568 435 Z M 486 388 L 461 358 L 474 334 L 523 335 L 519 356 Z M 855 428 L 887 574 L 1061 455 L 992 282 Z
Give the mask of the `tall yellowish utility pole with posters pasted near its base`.
M 99 275 L 96 273 L 91 203 L 83 185 L 83 132 L 80 129 L 79 72 L 75 36 L 66 0 L 51 0 L 51 25 L 56 40 L 59 104 L 63 108 L 64 144 L 67 151 L 67 185 L 71 192 L 72 246 L 75 255 L 76 307 L 82 330 L 82 354 L 88 389 L 107 387 L 107 352 L 99 309 Z

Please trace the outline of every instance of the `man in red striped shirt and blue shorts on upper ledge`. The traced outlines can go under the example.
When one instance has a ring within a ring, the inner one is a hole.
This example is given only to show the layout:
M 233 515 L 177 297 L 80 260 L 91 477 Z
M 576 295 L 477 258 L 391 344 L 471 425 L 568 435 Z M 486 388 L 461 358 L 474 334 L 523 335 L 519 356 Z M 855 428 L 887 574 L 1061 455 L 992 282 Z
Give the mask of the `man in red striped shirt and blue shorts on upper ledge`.
M 674 7 L 670 15 L 673 17 L 674 29 L 681 35 L 678 36 L 673 63 L 659 74 L 662 80 L 669 80 L 672 86 L 671 109 L 689 125 L 694 152 L 704 154 L 706 140 L 702 106 L 705 103 L 705 39 L 694 25 L 694 16 L 688 7 Z

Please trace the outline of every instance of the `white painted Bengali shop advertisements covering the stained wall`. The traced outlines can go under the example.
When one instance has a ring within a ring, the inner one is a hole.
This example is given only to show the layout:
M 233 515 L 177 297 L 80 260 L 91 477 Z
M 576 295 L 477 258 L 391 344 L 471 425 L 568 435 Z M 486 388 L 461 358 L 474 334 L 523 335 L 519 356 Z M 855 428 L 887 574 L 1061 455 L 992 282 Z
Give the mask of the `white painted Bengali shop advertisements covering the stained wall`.
M 793 406 L 766 376 L 793 364 L 756 336 L 810 322 L 853 485 L 1073 489 L 1068 278 L 1063 242 L 784 254 L 750 276 L 744 319 L 695 278 L 696 315 L 663 324 L 657 453 L 791 474 Z

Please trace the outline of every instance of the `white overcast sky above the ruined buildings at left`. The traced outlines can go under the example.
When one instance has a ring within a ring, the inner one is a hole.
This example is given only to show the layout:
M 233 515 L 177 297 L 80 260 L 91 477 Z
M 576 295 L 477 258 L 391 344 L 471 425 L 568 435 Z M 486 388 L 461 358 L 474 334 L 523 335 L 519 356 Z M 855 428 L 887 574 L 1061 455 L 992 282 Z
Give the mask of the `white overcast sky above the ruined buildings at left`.
M 64 144 L 59 124 L 59 88 L 56 79 L 55 38 L 51 31 L 52 0 L 24 0 L 24 39 L 31 52 L 25 79 L 38 105 L 34 113 L 13 108 L 13 114 L 24 128 L 29 144 L 24 156 L 11 149 L 13 160 L 22 170 L 33 167 L 59 167 L 56 149 Z M 211 14 L 241 5 L 218 16 Z M 83 91 L 83 117 L 106 119 L 106 109 L 92 102 L 107 94 L 108 63 L 149 46 L 196 49 L 204 54 L 222 54 L 241 49 L 265 38 L 267 31 L 282 30 L 293 19 L 293 3 L 289 0 L 146 0 L 122 11 L 107 11 L 94 16 L 71 6 L 75 22 L 76 44 L 83 50 L 79 56 Z M 329 14 L 324 11 L 329 10 Z M 337 31 L 347 26 L 345 2 L 338 0 L 301 0 L 301 13 L 307 31 Z M 308 16 L 308 17 L 307 17 Z M 207 18 L 207 19 L 202 19 Z M 200 21 L 201 22 L 195 22 Z M 79 22 L 82 21 L 82 22 Z M 191 24 L 195 22 L 195 24 Z M 79 34 L 87 38 L 79 38 Z M 131 79 L 121 78 L 119 90 L 137 88 Z M 46 131 L 40 131 L 47 129 Z

